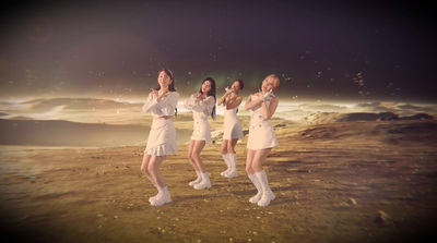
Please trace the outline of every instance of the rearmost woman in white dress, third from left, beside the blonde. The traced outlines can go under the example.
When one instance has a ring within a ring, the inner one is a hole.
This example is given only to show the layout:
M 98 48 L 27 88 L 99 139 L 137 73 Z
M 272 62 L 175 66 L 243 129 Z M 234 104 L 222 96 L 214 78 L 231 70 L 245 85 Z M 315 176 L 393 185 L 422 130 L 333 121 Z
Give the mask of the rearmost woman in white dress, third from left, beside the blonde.
M 226 93 L 217 102 L 217 106 L 222 104 L 224 106 L 222 157 L 227 166 L 227 169 L 221 174 L 226 178 L 238 177 L 235 145 L 237 144 L 238 138 L 245 138 L 241 123 L 237 117 L 238 106 L 243 100 L 238 93 L 243 89 L 243 81 L 236 80 L 231 88 L 225 88 Z

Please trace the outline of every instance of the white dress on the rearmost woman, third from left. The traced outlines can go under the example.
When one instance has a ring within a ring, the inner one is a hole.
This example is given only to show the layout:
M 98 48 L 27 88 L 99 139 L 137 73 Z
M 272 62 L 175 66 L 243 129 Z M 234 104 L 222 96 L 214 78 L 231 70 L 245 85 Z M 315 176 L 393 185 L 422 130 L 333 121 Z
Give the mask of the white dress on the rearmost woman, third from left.
M 224 107 L 224 125 L 223 125 L 223 139 L 232 141 L 237 138 L 245 138 L 243 134 L 241 123 L 237 117 L 237 109 L 226 109 Z

